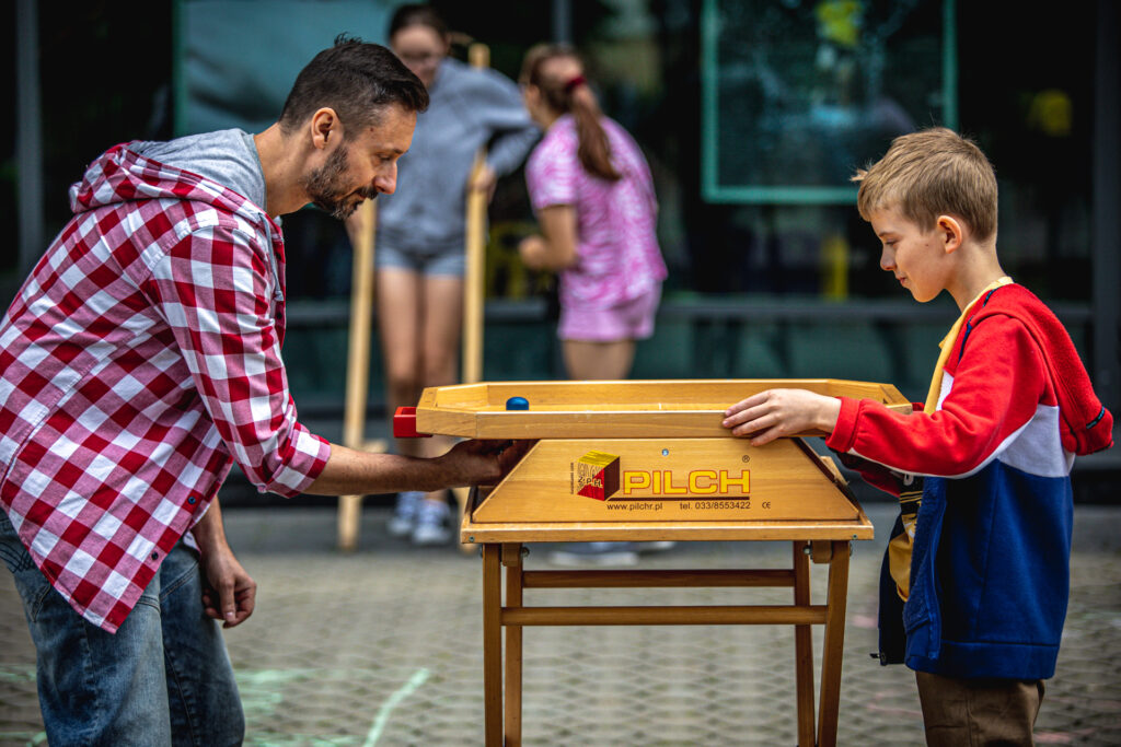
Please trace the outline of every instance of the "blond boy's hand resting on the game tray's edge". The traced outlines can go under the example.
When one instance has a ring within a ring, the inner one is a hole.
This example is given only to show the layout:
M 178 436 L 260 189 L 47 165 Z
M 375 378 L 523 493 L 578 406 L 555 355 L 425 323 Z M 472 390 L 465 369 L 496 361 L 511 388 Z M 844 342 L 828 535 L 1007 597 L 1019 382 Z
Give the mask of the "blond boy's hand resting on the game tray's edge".
M 770 389 L 736 402 L 724 411 L 724 428 L 750 436 L 752 446 L 808 430 L 833 432 L 841 400 L 804 389 Z

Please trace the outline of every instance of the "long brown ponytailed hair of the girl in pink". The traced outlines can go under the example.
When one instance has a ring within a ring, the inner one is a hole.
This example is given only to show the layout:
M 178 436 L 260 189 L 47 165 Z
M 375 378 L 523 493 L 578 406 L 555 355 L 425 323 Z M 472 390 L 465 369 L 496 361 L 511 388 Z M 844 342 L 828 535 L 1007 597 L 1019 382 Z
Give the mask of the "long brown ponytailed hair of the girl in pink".
M 600 122 L 602 112 L 591 86 L 583 74 L 560 78 L 543 72 L 545 63 L 553 59 L 574 59 L 584 69 L 584 62 L 575 49 L 567 45 L 539 44 L 526 53 L 521 64 L 522 85 L 536 86 L 545 102 L 557 112 L 571 113 L 576 120 L 576 136 L 580 147 L 576 156 L 584 170 L 601 179 L 618 181 L 622 175 L 611 164 L 611 143 Z

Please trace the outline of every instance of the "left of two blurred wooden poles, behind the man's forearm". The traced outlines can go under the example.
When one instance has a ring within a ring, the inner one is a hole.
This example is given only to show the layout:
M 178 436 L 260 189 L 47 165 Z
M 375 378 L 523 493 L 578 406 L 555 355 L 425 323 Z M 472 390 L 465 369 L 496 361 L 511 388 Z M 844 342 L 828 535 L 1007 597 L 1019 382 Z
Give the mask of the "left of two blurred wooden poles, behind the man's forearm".
M 351 318 L 346 352 L 346 402 L 343 410 L 343 446 L 364 447 L 365 394 L 370 382 L 370 336 L 373 312 L 373 235 L 378 224 L 373 200 L 359 205 L 355 214 L 354 265 L 351 282 Z M 361 495 L 339 498 L 339 548 L 351 551 L 358 545 Z

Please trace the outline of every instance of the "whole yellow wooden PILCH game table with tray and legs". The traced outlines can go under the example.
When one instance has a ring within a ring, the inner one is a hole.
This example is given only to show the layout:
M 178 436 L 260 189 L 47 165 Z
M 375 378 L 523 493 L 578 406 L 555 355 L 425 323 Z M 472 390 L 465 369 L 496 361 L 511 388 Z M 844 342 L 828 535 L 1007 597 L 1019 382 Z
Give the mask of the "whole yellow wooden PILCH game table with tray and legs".
M 465 384 L 427 389 L 415 412 L 399 412 L 399 435 L 536 439 L 499 485 L 472 491 L 461 527 L 463 542 L 482 545 L 488 746 L 521 744 L 522 629 L 538 625 L 793 625 L 798 744 L 836 744 L 850 543 L 872 539 L 872 524 L 833 461 L 803 438 L 821 433 L 753 447 L 721 426 L 730 404 L 789 386 L 910 412 L 893 386 L 837 380 Z M 529 409 L 508 411 L 515 396 Z M 522 562 L 525 543 L 601 540 L 788 541 L 793 561 L 754 570 L 527 570 Z M 824 605 L 810 603 L 810 561 L 828 563 Z M 522 594 L 636 587 L 794 594 L 790 605 L 613 607 L 527 606 Z M 816 730 L 812 625 L 825 626 Z

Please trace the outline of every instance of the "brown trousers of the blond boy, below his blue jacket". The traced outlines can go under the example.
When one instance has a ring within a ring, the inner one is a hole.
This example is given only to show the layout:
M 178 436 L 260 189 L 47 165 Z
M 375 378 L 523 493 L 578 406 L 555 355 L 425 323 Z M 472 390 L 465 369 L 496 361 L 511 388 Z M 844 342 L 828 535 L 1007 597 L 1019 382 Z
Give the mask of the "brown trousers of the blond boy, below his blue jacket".
M 929 747 L 1030 747 L 1043 680 L 966 680 L 916 672 Z

